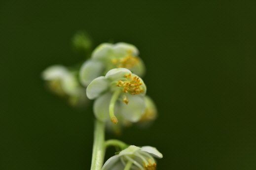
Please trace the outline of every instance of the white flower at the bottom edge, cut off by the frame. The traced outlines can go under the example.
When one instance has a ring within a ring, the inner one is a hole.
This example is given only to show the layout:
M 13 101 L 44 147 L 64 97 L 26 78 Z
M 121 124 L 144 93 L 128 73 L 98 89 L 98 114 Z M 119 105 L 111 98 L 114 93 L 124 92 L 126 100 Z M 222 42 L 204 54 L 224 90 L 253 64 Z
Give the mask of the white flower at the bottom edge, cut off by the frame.
M 163 155 L 151 146 L 137 147 L 130 145 L 118 155 L 112 156 L 103 165 L 102 170 L 123 170 L 128 162 L 132 163 L 131 170 L 156 170 L 153 157 L 162 158 Z

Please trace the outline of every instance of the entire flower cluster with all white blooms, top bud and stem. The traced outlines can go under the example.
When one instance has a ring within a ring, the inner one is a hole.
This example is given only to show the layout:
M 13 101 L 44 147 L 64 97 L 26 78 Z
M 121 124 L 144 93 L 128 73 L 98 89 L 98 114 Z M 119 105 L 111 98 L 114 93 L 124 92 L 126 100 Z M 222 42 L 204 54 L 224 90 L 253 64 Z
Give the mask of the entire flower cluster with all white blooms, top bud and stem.
M 74 47 L 84 52 L 90 51 L 91 42 L 87 37 L 78 32 L 73 39 Z M 106 125 L 110 131 L 120 134 L 123 126 L 136 124 L 146 127 L 157 117 L 156 106 L 146 95 L 146 84 L 142 79 L 145 65 L 138 55 L 139 51 L 134 45 L 103 43 L 79 70 L 71 71 L 65 66 L 53 65 L 42 72 L 42 79 L 53 93 L 67 99 L 72 106 L 86 105 L 88 99 L 95 99 L 93 112 L 96 124 L 104 128 Z M 104 141 L 103 136 L 95 139 L 93 170 L 156 170 L 154 157 L 163 157 L 155 147 L 129 146 L 118 140 Z M 106 147 L 108 143 L 121 151 L 102 167 L 104 142 Z M 97 145 L 99 150 L 95 151 Z M 100 161 L 95 163 L 98 159 Z

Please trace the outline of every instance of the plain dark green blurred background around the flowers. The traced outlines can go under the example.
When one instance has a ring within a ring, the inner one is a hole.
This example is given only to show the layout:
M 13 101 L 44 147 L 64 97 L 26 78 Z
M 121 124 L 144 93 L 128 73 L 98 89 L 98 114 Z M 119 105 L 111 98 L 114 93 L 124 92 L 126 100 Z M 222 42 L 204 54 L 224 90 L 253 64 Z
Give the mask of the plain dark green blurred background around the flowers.
M 0 170 L 90 169 L 92 109 L 73 110 L 40 79 L 84 59 L 71 48 L 80 29 L 94 47 L 136 45 L 146 63 L 159 117 L 118 139 L 157 147 L 159 170 L 256 169 L 255 0 L 1 0 Z

